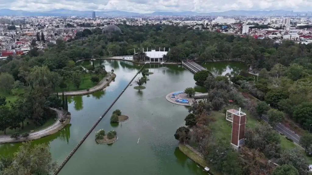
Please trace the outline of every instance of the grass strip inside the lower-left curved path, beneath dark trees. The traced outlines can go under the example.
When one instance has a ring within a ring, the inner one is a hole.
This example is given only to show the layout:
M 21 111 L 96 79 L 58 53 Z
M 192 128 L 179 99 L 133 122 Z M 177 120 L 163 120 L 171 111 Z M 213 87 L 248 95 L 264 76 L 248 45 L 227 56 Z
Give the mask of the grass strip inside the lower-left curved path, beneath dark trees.
M 27 125 L 27 122 L 29 122 L 29 125 Z M 31 130 L 38 131 L 38 130 L 44 129 L 44 128 L 52 125 L 54 122 L 55 122 L 54 118 L 51 117 L 50 119 L 48 119 L 46 121 L 45 124 L 43 124 L 41 126 L 36 126 L 32 121 L 30 121 L 28 118 L 26 118 L 24 121 L 24 129 L 17 128 L 15 131 L 14 129 L 10 130 L 9 128 L 7 128 L 7 134 L 10 135 L 10 134 L 14 134 L 15 132 L 19 132 L 20 134 L 25 133 L 25 132 L 29 133 Z M 22 123 L 21 123 L 21 126 L 22 126 Z M 0 131 L 0 135 L 2 135 L 2 134 L 4 134 L 4 132 Z

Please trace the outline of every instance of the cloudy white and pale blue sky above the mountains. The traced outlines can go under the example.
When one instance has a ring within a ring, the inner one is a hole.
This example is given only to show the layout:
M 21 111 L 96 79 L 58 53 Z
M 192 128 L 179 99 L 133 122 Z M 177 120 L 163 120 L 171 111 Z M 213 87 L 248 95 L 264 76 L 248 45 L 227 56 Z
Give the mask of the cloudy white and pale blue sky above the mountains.
M 147 13 L 154 11 L 223 12 L 227 10 L 310 11 L 312 0 L 0 0 L 0 9 L 27 11 L 122 10 Z

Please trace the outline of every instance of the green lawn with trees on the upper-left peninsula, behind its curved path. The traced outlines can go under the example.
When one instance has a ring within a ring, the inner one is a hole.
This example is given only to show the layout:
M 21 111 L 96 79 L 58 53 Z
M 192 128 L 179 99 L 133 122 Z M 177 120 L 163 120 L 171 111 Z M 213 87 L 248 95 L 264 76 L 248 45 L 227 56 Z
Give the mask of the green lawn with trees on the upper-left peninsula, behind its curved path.
M 95 74 L 92 74 L 92 76 L 95 76 Z M 60 88 L 60 87 L 56 87 L 55 88 L 55 92 L 63 92 L 63 91 L 80 91 L 80 90 L 85 90 L 91 87 L 94 87 L 95 85 L 97 85 L 99 82 L 95 82 L 93 83 L 91 81 L 91 77 L 90 73 L 86 73 L 85 77 L 83 75 L 81 75 L 81 82 L 80 82 L 80 86 L 77 89 L 76 87 L 74 87 L 73 83 L 70 82 L 67 84 L 66 88 Z M 104 76 L 100 75 L 99 76 L 99 81 L 102 80 L 102 78 L 104 78 Z

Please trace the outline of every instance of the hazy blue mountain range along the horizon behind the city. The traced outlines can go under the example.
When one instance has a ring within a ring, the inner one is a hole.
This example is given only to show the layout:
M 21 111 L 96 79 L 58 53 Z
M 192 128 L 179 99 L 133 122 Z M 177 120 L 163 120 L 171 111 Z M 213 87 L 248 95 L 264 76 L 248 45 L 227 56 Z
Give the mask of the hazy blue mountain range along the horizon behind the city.
M 45 12 L 28 12 L 23 10 L 10 10 L 10 9 L 0 9 L 0 16 L 85 16 L 91 17 L 94 11 L 77 11 L 77 10 L 67 10 L 67 9 L 57 9 Z M 292 16 L 297 14 L 305 14 L 305 12 L 293 12 L 287 10 L 269 10 L 269 11 L 259 11 L 259 10 L 230 10 L 226 12 L 209 12 L 209 13 L 198 13 L 198 12 L 153 12 L 153 13 L 134 13 L 134 12 L 124 12 L 124 11 L 96 11 L 95 15 L 100 17 L 139 17 L 139 16 Z

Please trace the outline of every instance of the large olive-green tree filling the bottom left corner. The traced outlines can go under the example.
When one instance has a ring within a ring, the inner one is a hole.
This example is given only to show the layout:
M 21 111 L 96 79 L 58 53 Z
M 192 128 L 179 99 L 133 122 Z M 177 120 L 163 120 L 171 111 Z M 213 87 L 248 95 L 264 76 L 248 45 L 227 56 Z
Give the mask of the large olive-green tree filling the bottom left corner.
M 56 168 L 57 164 L 52 161 L 48 145 L 35 144 L 31 146 L 30 142 L 24 142 L 14 153 L 11 165 L 4 168 L 2 174 L 52 174 Z

